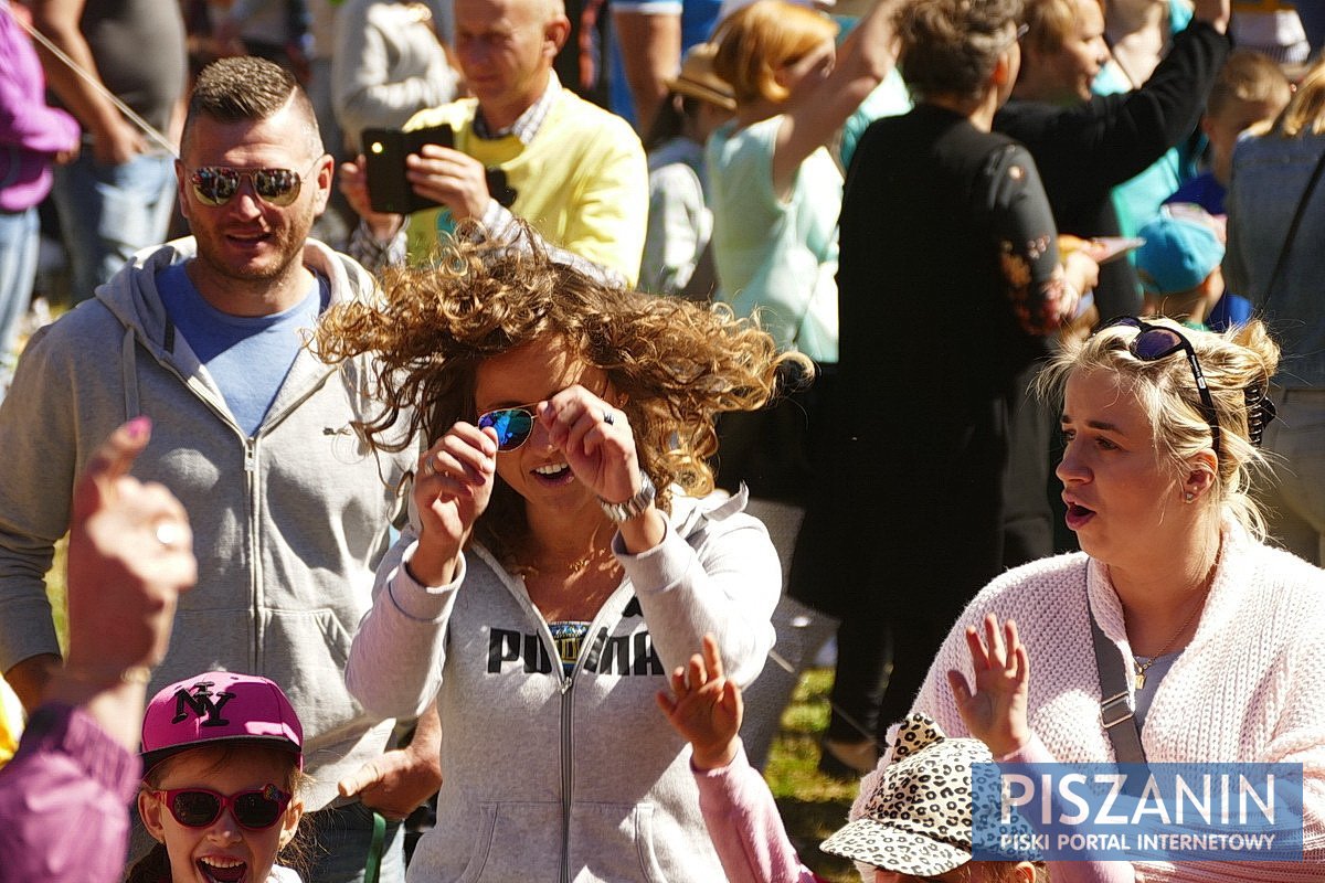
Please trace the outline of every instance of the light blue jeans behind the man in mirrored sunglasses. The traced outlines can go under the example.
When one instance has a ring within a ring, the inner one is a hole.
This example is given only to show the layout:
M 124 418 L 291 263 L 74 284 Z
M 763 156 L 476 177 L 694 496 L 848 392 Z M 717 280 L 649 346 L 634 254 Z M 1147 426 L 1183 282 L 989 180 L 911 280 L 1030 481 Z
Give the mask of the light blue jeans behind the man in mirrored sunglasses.
M 90 144 L 56 167 L 52 191 L 69 250 L 72 301 L 91 297 L 134 252 L 166 240 L 175 208 L 175 160 L 143 154 L 123 165 L 102 165 Z

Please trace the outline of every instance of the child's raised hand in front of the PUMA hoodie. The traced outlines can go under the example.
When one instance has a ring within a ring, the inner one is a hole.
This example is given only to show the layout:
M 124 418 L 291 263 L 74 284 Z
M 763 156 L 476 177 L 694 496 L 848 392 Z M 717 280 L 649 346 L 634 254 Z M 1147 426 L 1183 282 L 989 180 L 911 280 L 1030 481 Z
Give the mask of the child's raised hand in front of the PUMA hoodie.
M 741 688 L 722 674 L 718 642 L 704 635 L 704 655 L 694 654 L 686 666 L 672 673 L 673 700 L 659 691 L 659 707 L 694 749 L 697 769 L 726 767 L 737 756 L 741 729 Z

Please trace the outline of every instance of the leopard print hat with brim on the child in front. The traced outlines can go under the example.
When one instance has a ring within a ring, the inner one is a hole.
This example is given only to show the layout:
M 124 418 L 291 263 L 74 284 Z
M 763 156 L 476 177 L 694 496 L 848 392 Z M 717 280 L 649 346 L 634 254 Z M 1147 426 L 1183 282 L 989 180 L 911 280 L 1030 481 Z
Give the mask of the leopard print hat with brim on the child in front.
M 865 814 L 820 849 L 885 871 L 933 876 L 971 860 L 971 765 L 992 763 L 978 739 L 949 739 L 925 715 L 897 731 L 892 763 Z M 1030 829 L 1026 829 L 1030 830 Z

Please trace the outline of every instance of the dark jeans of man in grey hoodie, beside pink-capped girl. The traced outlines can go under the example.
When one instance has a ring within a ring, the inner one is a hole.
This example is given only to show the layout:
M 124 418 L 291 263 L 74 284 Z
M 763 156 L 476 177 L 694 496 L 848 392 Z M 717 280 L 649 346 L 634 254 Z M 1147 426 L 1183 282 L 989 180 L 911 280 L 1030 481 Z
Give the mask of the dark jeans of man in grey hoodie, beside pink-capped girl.
M 372 845 L 372 810 L 359 801 L 329 806 L 305 815 L 299 827 L 305 825 L 310 826 L 313 849 L 303 879 L 309 883 L 362 883 L 363 866 Z M 405 879 L 404 833 L 398 822 L 387 825 L 378 879 L 380 883 L 403 883 Z

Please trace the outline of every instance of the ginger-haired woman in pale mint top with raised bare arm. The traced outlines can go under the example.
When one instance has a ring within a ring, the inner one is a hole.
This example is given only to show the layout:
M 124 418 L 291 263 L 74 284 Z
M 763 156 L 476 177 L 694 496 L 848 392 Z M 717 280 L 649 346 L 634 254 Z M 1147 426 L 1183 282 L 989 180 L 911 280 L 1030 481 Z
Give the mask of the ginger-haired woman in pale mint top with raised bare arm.
M 705 154 L 718 299 L 819 363 L 837 361 L 843 181 L 825 146 L 892 69 L 892 3 L 840 50 L 832 19 L 783 0 L 738 9 L 714 33 L 714 71 L 737 99 Z

